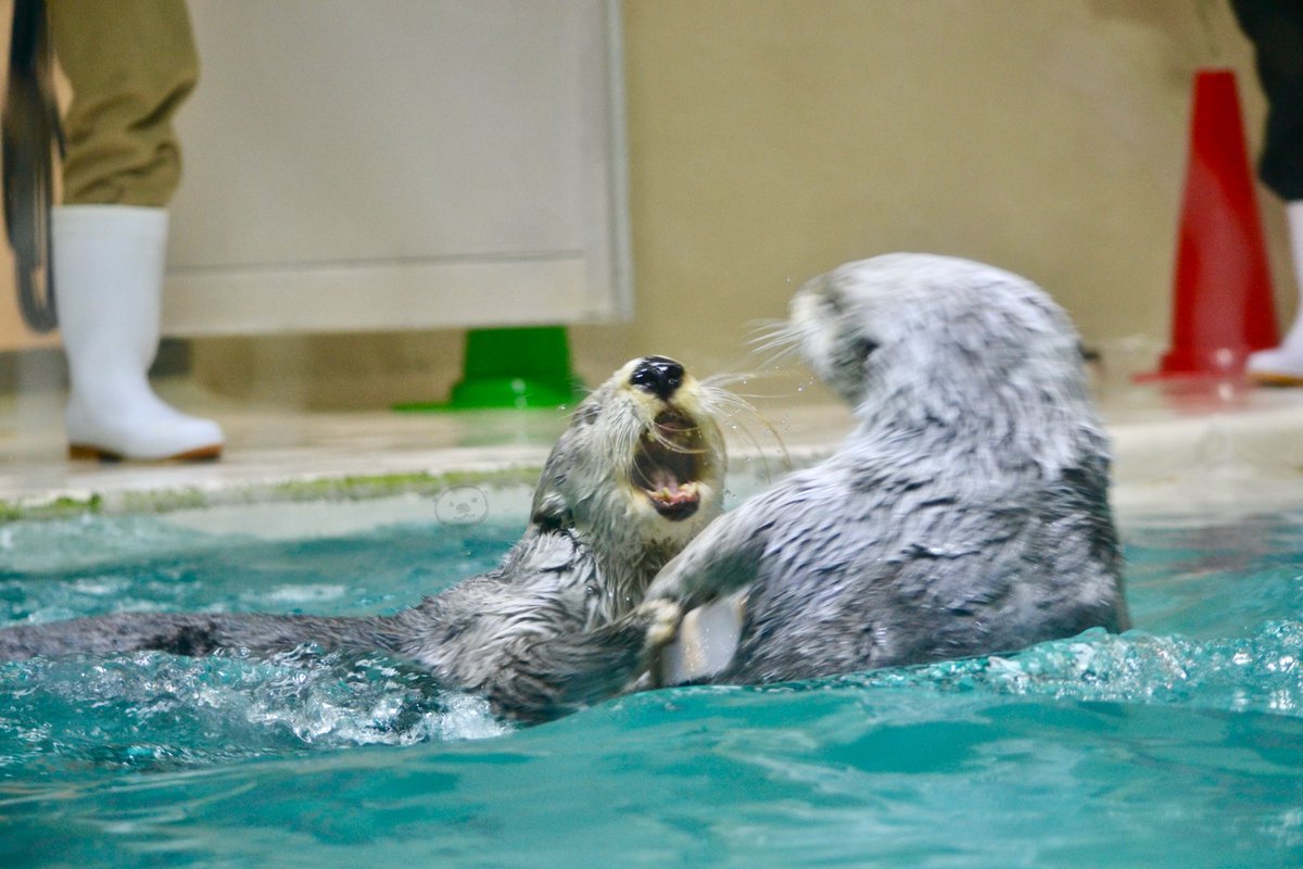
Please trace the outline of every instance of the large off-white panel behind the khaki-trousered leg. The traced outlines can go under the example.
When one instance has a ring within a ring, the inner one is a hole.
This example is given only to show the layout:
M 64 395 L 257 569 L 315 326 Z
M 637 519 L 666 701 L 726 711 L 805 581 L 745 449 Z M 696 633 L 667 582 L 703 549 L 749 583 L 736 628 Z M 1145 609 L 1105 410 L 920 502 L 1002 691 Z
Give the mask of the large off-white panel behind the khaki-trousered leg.
M 167 334 L 627 315 L 615 3 L 190 9 Z

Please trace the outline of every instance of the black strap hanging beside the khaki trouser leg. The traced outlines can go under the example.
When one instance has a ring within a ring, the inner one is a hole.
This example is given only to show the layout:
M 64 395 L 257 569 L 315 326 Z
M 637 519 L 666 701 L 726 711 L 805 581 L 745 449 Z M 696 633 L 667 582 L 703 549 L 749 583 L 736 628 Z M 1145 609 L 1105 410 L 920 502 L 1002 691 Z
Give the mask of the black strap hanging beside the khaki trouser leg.
M 9 85 L 0 112 L 4 160 L 4 225 L 13 248 L 22 319 L 36 332 L 59 324 L 55 268 L 50 258 L 53 149 L 63 155 L 53 61 L 44 0 L 14 0 Z

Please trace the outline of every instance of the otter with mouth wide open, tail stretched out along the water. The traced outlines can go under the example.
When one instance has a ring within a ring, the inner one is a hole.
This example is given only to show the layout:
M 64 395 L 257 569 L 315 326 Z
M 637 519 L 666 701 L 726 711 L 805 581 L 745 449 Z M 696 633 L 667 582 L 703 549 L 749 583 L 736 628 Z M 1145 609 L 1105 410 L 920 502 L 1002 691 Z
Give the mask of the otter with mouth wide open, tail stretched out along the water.
M 124 612 L 0 631 L 0 659 L 313 645 L 409 661 L 502 715 L 556 717 L 615 693 L 636 666 L 644 591 L 721 513 L 717 421 L 734 401 L 674 360 L 628 362 L 576 408 L 502 564 L 395 615 Z

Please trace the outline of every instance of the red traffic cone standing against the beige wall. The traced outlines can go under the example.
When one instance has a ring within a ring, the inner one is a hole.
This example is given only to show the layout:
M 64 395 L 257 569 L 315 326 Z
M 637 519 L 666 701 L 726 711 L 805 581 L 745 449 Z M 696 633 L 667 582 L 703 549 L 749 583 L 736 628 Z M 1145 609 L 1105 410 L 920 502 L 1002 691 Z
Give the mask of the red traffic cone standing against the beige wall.
M 1235 73 L 1195 73 L 1171 349 L 1158 377 L 1226 377 L 1276 347 L 1276 313 Z

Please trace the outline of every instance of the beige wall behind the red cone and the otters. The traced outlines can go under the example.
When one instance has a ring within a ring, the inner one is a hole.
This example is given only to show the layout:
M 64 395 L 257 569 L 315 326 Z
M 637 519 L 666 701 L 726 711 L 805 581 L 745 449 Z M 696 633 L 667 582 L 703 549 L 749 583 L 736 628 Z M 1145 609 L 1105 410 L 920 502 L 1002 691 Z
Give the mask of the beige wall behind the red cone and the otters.
M 1251 147 L 1261 126 L 1224 0 L 625 0 L 624 31 L 637 309 L 572 330 L 590 379 L 648 352 L 754 367 L 751 326 L 801 280 L 889 250 L 1023 272 L 1088 341 L 1161 347 L 1192 72 L 1235 68 Z M 201 378 L 369 405 L 457 374 L 456 334 L 278 341 L 203 341 Z

